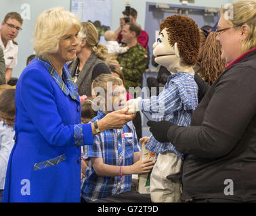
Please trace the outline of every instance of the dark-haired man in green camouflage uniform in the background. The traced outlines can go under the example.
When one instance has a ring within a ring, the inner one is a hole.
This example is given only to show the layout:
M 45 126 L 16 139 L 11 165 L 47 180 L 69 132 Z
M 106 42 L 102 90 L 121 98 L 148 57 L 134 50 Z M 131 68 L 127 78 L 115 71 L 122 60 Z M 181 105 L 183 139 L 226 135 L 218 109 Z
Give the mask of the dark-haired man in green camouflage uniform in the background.
M 127 88 L 142 85 L 142 74 L 148 68 L 148 51 L 137 43 L 141 28 L 134 22 L 128 22 L 123 26 L 122 36 L 129 50 L 117 57 L 125 76 Z

